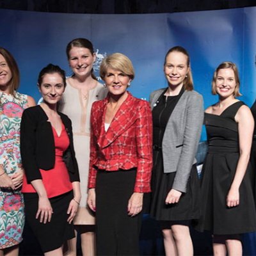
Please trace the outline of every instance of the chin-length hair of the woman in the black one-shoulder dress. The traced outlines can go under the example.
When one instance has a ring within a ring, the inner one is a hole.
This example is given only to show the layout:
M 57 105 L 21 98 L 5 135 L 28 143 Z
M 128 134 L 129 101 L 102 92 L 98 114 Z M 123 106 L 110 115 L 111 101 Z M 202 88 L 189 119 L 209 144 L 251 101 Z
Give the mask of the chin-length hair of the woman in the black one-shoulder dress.
M 235 97 L 239 97 L 242 94 L 239 92 L 239 88 L 240 88 L 240 79 L 239 79 L 239 74 L 238 74 L 238 69 L 236 67 L 236 64 L 231 62 L 231 61 L 224 61 L 222 63 L 220 63 L 220 65 L 218 65 L 218 67 L 216 68 L 216 70 L 214 71 L 213 77 L 212 77 L 212 94 L 216 95 L 216 78 L 218 76 L 218 72 L 220 71 L 220 69 L 223 68 L 231 68 L 234 71 L 234 75 L 235 75 L 235 80 L 236 80 L 236 87 L 234 90 L 234 96 Z

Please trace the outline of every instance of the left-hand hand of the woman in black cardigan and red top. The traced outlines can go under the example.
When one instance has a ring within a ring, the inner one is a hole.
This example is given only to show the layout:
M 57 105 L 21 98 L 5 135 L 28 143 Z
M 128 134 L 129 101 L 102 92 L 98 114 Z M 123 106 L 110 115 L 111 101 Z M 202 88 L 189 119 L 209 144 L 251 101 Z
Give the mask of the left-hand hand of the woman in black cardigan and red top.
M 45 224 L 47 221 L 51 221 L 52 213 L 52 206 L 49 199 L 46 196 L 39 196 L 36 219 L 40 218 L 40 222 L 44 222 Z

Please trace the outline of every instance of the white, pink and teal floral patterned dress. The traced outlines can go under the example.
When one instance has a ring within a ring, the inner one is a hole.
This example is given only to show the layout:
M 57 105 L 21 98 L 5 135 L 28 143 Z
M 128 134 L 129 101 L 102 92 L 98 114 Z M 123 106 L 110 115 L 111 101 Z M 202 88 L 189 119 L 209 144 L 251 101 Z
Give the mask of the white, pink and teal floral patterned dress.
M 0 92 L 0 164 L 10 176 L 22 168 L 20 120 L 27 107 L 27 95 L 17 92 L 13 97 Z M 0 249 L 22 241 L 24 221 L 24 201 L 20 189 L 0 188 Z

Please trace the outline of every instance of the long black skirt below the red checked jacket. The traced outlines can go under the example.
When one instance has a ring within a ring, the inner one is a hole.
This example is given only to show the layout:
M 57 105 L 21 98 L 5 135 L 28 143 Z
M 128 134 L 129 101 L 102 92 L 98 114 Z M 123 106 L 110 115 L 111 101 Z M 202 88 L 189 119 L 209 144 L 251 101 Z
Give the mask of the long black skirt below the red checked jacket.
M 140 255 L 141 214 L 128 216 L 136 170 L 99 170 L 96 181 L 97 255 Z

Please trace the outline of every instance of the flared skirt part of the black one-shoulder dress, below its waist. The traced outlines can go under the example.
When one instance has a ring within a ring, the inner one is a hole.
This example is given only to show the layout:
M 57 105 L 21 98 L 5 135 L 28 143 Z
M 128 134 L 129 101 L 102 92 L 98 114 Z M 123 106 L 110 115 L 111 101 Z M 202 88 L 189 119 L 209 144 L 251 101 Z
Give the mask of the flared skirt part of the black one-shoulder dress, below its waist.
M 207 154 L 202 170 L 202 217 L 197 230 L 209 230 L 215 235 L 243 234 L 256 230 L 250 164 L 239 187 L 239 205 L 227 207 L 227 195 L 238 160 L 239 152 Z

